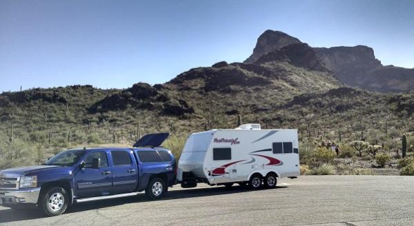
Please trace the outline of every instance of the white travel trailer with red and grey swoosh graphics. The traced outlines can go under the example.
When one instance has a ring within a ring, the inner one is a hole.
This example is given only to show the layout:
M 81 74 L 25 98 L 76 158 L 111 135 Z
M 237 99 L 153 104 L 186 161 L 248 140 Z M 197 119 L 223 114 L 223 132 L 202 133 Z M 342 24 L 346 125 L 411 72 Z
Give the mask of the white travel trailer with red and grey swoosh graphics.
M 238 183 L 273 188 L 278 178 L 299 174 L 297 130 L 261 130 L 260 124 L 245 124 L 191 134 L 178 161 L 177 180 L 182 187 Z

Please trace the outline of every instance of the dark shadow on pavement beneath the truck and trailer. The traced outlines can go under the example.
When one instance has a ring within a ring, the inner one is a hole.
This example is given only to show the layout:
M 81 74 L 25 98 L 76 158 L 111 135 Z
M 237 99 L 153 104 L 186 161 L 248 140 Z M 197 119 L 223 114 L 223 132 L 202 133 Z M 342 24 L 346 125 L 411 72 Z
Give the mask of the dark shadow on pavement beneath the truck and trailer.
M 276 189 L 285 188 L 285 186 L 277 186 Z M 263 189 L 264 190 L 264 189 Z M 180 189 L 169 191 L 166 196 L 160 201 L 175 200 L 182 198 L 194 198 L 203 196 L 217 196 L 222 194 L 234 194 L 242 192 L 256 192 L 256 190 L 249 189 L 247 187 L 205 187 L 195 189 Z M 158 202 L 150 201 L 147 199 L 144 193 L 137 196 L 129 196 L 124 198 L 112 198 L 102 201 L 92 201 L 88 203 L 75 204 L 66 210 L 66 214 L 83 212 L 91 209 L 100 209 L 105 207 L 113 207 L 117 205 L 129 204 L 129 203 L 144 203 L 144 202 Z M 46 217 L 39 209 L 32 208 L 27 210 L 13 210 L 13 209 L 1 209 L 0 210 L 0 223 L 14 222 L 20 220 L 32 220 L 37 218 Z

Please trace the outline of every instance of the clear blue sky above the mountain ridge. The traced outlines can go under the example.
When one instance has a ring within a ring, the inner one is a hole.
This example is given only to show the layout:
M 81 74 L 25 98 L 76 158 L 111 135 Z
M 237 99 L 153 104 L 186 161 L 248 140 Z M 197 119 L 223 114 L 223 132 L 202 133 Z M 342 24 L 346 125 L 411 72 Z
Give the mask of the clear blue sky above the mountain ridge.
M 414 1 L 0 0 L 0 92 L 155 84 L 241 62 L 267 29 L 414 68 Z

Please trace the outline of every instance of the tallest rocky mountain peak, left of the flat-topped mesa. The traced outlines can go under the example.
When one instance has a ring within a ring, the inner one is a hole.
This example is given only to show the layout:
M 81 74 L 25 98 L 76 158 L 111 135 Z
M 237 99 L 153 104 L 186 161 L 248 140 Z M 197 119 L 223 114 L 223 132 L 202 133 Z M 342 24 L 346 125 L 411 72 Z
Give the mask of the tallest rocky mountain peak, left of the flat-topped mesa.
M 244 63 L 254 63 L 261 56 L 293 43 L 301 43 L 301 41 L 283 32 L 266 30 L 260 37 L 258 37 L 253 54 L 247 58 Z

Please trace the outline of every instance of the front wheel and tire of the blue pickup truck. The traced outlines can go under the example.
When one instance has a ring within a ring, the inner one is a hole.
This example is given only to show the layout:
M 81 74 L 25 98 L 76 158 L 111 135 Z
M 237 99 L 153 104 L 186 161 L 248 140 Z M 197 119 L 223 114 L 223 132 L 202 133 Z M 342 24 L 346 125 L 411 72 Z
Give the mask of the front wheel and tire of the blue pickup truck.
M 65 212 L 68 202 L 68 192 L 63 187 L 50 187 L 42 192 L 39 207 L 47 216 L 58 216 Z

